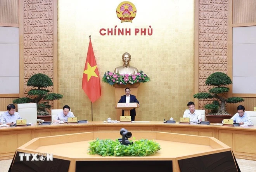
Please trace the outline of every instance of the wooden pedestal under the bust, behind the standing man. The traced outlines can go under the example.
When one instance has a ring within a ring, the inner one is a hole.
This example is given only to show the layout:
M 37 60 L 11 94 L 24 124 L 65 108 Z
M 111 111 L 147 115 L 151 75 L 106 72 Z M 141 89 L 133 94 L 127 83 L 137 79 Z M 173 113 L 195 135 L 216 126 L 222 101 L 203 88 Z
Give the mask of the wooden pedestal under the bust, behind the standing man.
M 135 95 L 137 97 L 138 94 L 138 86 L 140 86 L 140 83 L 135 83 L 135 84 L 127 84 L 127 85 L 120 85 L 120 84 L 114 84 L 115 87 L 115 97 L 116 97 L 116 104 L 120 100 L 121 96 L 125 95 L 125 88 L 130 88 L 131 89 L 131 94 Z M 116 119 L 115 120 L 120 120 L 120 116 L 122 116 L 122 110 L 121 109 L 116 109 Z

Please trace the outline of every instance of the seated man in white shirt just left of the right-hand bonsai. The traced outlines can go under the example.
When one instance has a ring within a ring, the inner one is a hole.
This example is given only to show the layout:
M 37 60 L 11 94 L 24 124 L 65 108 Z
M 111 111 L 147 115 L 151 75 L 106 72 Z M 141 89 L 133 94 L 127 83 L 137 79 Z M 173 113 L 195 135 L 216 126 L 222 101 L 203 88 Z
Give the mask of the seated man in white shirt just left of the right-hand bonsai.
M 192 122 L 201 122 L 202 115 L 199 111 L 195 110 L 195 103 L 190 101 L 187 106 L 189 109 L 184 111 L 183 118 L 190 118 Z

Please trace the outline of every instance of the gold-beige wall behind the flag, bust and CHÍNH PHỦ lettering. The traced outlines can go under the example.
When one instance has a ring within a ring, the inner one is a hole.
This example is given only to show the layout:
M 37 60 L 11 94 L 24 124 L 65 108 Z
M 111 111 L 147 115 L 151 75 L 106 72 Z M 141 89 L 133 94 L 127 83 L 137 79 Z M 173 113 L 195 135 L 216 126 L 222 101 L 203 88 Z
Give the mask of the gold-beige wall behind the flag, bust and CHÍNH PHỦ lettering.
M 136 120 L 161 121 L 183 115 L 194 100 L 194 1 L 146 0 L 133 2 L 137 15 L 132 23 L 116 17 L 120 1 L 58 1 L 58 108 L 71 106 L 74 115 L 91 120 L 91 102 L 81 88 L 83 69 L 92 35 L 100 73 L 122 64 L 124 52 L 131 66 L 144 71 L 151 81 L 140 84 Z M 185 4 L 185 5 L 184 5 Z M 102 36 L 101 28 L 131 28 L 130 36 Z M 134 28 L 153 28 L 152 35 L 133 34 Z M 101 83 L 102 96 L 93 103 L 93 121 L 115 118 L 114 88 Z

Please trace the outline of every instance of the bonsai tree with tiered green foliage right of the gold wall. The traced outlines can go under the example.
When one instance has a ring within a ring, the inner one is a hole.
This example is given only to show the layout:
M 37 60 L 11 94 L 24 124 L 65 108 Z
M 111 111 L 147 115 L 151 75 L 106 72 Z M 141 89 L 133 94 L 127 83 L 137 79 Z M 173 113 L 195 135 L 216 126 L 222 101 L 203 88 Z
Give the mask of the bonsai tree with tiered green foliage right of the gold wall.
M 232 84 L 230 77 L 222 72 L 215 72 L 208 76 L 205 81 L 205 84 L 216 86 L 214 88 L 209 89 L 209 93 L 197 93 L 194 94 L 194 98 L 197 99 L 212 99 L 216 98 L 219 101 L 214 100 L 211 104 L 207 104 L 204 108 L 211 110 L 209 115 L 229 115 L 226 111 L 226 103 L 238 103 L 244 101 L 243 98 L 240 97 L 230 97 L 224 98 L 220 94 L 228 93 L 229 88 L 225 87 L 229 84 Z

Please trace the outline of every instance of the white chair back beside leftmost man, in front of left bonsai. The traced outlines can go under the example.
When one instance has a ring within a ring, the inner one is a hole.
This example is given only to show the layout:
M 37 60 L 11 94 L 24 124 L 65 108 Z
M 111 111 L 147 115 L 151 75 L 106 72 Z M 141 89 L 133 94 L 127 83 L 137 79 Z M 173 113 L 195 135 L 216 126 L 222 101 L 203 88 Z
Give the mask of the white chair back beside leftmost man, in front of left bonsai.
M 37 108 L 36 103 L 21 103 L 17 104 L 17 112 L 22 119 L 26 119 L 27 123 L 36 124 Z

